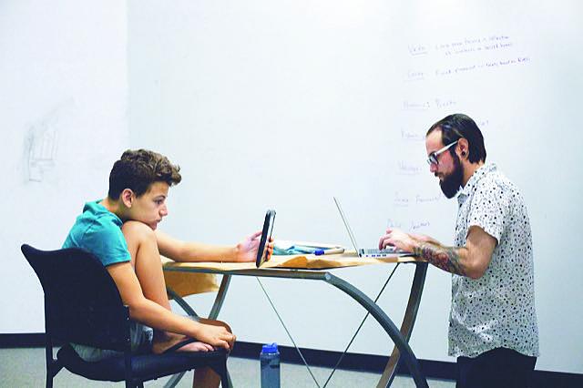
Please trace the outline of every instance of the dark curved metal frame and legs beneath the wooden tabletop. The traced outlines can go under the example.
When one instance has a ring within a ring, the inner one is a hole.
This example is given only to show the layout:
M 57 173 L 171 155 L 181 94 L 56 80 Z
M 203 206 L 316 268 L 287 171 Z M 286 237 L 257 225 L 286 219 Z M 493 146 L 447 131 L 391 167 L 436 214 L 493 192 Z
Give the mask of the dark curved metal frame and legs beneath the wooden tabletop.
M 411 292 L 409 293 L 409 301 L 404 313 L 401 329 L 398 330 L 394 322 L 372 299 L 370 299 L 363 291 L 358 290 L 348 281 L 333 275 L 329 271 L 322 270 L 284 270 L 284 269 L 254 269 L 254 270 L 237 270 L 237 271 L 220 271 L 205 268 L 194 267 L 165 267 L 164 271 L 180 271 L 180 272 L 202 272 L 214 273 L 223 275 L 220 282 L 220 289 L 215 298 L 214 304 L 209 314 L 210 319 L 217 319 L 220 309 L 227 296 L 229 290 L 230 277 L 235 276 L 257 276 L 266 278 L 283 278 L 283 279 L 303 279 L 313 281 L 325 281 L 337 289 L 343 291 L 363 306 L 366 311 L 373 315 L 374 319 L 379 322 L 384 331 L 391 337 L 394 342 L 394 349 L 389 357 L 389 361 L 384 368 L 384 372 L 377 383 L 377 388 L 388 387 L 393 383 L 396 367 L 400 358 L 403 356 L 404 362 L 407 365 L 411 376 L 413 377 L 415 386 L 428 388 L 427 381 L 424 374 L 421 372 L 419 362 L 417 361 L 414 352 L 409 347 L 409 339 L 413 332 L 414 322 L 419 310 L 419 303 L 421 302 L 421 295 L 423 293 L 425 275 L 427 273 L 427 263 L 423 261 L 412 262 L 415 265 L 414 278 L 411 285 Z M 179 297 L 175 292 L 169 289 L 169 295 L 174 298 L 179 306 L 190 315 L 196 315 L 189 304 Z M 170 379 L 166 387 L 173 387 L 179 382 L 182 374 L 177 374 Z

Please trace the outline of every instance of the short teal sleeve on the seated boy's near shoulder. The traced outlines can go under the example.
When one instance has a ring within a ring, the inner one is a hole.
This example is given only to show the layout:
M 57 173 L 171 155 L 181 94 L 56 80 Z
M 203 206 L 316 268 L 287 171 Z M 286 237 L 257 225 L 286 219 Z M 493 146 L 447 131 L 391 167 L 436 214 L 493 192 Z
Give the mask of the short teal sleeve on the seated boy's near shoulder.
M 131 260 L 126 238 L 116 225 L 94 222 L 84 233 L 81 245 L 96 255 L 104 266 Z

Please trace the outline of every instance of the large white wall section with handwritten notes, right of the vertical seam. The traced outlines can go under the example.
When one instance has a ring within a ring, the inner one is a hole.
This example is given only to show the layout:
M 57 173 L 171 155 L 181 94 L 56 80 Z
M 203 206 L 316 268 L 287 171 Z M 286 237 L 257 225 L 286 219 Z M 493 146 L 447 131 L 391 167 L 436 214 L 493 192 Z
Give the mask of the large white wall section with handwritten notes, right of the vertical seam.
M 455 201 L 427 173 L 423 138 L 465 112 L 530 209 L 537 368 L 583 373 L 582 273 L 568 248 L 582 215 L 583 8 L 534 3 L 129 2 L 131 144 L 169 155 L 184 178 L 161 228 L 232 243 L 274 208 L 277 238 L 348 244 L 336 195 L 362 245 L 387 224 L 451 243 Z M 374 296 L 390 270 L 340 273 Z M 395 321 L 412 270 L 380 301 Z M 343 350 L 363 316 L 330 287 L 265 283 L 301 346 Z M 231 291 L 221 318 L 240 340 L 290 343 L 256 281 Z M 450 360 L 449 294 L 449 276 L 432 268 L 412 340 L 421 358 Z M 192 301 L 205 311 L 210 298 Z M 351 351 L 391 346 L 368 322 Z

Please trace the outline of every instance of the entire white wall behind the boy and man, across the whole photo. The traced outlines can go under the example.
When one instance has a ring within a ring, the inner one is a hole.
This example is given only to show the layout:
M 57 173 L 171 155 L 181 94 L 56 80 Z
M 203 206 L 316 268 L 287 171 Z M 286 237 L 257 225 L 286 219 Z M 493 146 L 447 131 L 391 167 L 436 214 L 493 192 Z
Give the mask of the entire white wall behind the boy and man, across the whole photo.
M 3 2 L 0 332 L 43 331 L 42 293 L 18 247 L 57 248 L 128 145 L 182 166 L 162 225 L 178 237 L 233 243 L 272 207 L 276 237 L 347 245 L 336 195 L 362 245 L 388 224 L 451 242 L 455 201 L 426 173 L 423 137 L 461 111 L 530 209 L 537 368 L 583 373 L 581 11 L 574 1 Z M 496 36 L 510 46 L 472 42 Z M 445 55 L 453 42 L 466 51 Z M 338 274 L 373 297 L 391 269 Z M 380 300 L 395 322 L 412 272 L 399 268 Z M 331 287 L 264 283 L 300 346 L 343 350 L 363 316 Z M 449 360 L 449 293 L 448 275 L 431 269 L 412 339 L 420 358 Z M 290 343 L 252 279 L 233 281 L 220 318 L 241 341 Z M 369 321 L 351 352 L 391 348 Z

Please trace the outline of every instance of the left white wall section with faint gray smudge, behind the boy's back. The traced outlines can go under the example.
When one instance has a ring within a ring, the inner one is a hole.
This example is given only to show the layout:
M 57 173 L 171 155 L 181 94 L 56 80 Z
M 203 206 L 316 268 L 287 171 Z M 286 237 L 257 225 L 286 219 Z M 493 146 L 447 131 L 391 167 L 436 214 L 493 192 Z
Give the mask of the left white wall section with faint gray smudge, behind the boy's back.
M 125 2 L 0 3 L 0 332 L 43 332 L 22 243 L 57 249 L 128 146 Z

